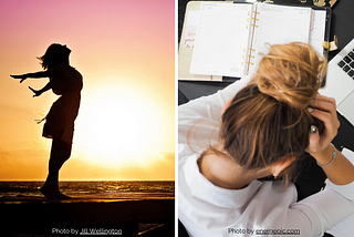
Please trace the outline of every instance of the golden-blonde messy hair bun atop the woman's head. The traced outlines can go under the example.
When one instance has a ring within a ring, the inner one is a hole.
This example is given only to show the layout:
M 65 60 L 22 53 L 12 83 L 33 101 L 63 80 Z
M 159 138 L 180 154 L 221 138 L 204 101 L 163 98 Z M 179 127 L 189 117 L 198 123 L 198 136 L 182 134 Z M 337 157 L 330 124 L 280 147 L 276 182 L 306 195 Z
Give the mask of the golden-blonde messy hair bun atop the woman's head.
M 306 109 L 321 86 L 325 65 L 309 44 L 273 45 L 263 55 L 254 83 L 279 102 Z

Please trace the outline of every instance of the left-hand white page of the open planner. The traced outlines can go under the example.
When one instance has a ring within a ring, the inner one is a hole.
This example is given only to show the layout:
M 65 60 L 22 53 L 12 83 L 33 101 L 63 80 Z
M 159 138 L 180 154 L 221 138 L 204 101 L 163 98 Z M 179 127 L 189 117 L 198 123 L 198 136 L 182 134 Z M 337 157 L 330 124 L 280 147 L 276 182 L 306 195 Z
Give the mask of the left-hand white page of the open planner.
M 243 76 L 252 4 L 201 3 L 190 73 Z

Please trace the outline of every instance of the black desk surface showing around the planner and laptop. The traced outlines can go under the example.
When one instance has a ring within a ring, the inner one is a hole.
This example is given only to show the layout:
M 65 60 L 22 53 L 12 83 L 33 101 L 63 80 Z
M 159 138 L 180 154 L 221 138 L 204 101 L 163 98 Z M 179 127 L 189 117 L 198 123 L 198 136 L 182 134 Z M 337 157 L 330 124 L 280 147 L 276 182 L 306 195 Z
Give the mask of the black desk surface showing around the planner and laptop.
M 181 28 L 184 23 L 185 9 L 188 0 L 178 1 L 178 40 L 180 38 Z M 331 40 L 334 34 L 339 38 L 339 50 L 329 53 L 331 60 L 337 52 L 340 52 L 352 39 L 354 39 L 354 28 L 351 23 L 354 22 L 354 1 L 337 0 L 332 8 L 331 22 Z M 223 89 L 229 83 L 226 82 L 178 82 L 178 90 L 186 95 L 187 99 L 192 100 L 202 95 L 209 95 Z M 337 148 L 347 147 L 354 151 L 354 127 L 339 114 L 341 127 L 337 136 L 333 143 Z

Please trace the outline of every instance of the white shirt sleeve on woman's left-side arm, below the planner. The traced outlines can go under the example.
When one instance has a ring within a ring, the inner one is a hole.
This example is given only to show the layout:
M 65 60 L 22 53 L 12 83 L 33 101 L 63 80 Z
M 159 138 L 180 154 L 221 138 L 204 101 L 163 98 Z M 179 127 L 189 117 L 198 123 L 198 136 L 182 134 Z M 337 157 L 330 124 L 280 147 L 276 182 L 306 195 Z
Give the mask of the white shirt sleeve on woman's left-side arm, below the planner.
M 202 96 L 178 106 L 178 143 L 187 144 L 188 131 L 197 122 L 208 121 L 218 123 L 226 102 L 244 87 L 250 78 L 251 75 L 244 76 L 212 95 Z M 202 132 L 205 136 L 212 133 L 211 130 L 208 130 L 207 125 Z

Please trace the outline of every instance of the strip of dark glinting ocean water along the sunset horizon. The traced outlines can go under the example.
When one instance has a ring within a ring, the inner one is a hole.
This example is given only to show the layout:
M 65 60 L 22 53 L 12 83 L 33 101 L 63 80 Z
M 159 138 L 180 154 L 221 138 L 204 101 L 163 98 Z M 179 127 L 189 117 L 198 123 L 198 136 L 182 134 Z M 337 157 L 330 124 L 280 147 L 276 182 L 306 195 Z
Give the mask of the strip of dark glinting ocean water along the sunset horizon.
M 44 182 L 0 182 L 0 197 L 41 196 L 40 188 Z M 60 182 L 64 194 L 159 194 L 170 196 L 175 193 L 173 181 L 92 181 Z

